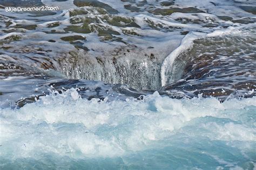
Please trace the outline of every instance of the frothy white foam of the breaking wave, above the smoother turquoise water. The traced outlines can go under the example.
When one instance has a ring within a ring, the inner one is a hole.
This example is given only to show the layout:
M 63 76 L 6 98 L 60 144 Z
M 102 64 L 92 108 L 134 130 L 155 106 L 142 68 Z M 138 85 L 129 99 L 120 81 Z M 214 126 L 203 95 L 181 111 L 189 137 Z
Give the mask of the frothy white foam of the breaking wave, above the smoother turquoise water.
M 130 159 L 129 155 L 143 155 L 149 149 L 193 149 L 197 142 L 213 142 L 214 146 L 215 142 L 224 142 L 225 147 L 234 147 L 244 154 L 239 161 L 250 161 L 255 154 L 255 111 L 255 97 L 220 103 L 215 98 L 170 99 L 155 92 L 140 101 L 106 98 L 99 102 L 82 99 L 75 89 L 70 89 L 18 110 L 1 109 L 0 157 L 14 161 L 39 161 L 45 155 L 52 155 L 52 159 Z M 191 141 L 186 141 L 186 145 L 174 142 L 184 137 Z M 220 149 L 215 154 L 222 152 Z M 205 157 L 207 154 L 205 151 Z

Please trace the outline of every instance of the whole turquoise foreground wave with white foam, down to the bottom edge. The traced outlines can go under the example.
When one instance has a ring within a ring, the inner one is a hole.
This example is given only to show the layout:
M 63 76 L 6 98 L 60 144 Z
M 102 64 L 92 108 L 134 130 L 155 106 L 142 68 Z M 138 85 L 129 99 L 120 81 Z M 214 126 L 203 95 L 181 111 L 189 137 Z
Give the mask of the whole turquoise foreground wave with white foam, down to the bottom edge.
M 87 100 L 71 89 L 5 108 L 3 169 L 253 169 L 255 97 Z

